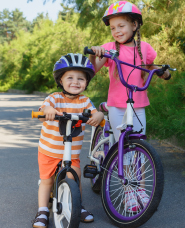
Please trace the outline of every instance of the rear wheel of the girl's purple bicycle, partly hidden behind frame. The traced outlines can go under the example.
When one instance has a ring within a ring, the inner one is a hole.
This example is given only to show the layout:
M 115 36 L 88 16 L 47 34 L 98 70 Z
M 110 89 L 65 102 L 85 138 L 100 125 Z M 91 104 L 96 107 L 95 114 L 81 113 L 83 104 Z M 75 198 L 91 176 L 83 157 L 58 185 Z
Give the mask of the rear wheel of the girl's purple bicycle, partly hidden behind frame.
M 104 138 L 105 137 L 104 137 L 104 133 L 103 133 L 103 128 L 101 126 L 98 126 L 95 130 L 94 137 L 92 140 L 91 151 Z M 102 164 L 104 157 L 105 157 L 105 153 L 108 152 L 108 150 L 109 150 L 109 144 L 108 143 L 102 144 L 100 147 L 98 147 L 96 153 L 94 154 L 94 157 L 99 159 L 100 164 Z M 91 165 L 95 165 L 95 163 L 93 161 L 91 161 Z M 99 174 L 96 175 L 96 177 L 93 179 L 90 179 L 90 181 L 91 181 L 92 190 L 95 193 L 99 193 L 101 190 L 101 177 L 100 177 L 100 175 Z

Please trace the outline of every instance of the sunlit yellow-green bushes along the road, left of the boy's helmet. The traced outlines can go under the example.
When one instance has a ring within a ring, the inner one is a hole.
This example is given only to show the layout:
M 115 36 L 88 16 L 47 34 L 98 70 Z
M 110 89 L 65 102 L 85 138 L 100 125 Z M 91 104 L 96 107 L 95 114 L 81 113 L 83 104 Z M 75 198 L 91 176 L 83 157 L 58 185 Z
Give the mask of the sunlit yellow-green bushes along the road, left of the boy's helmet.
M 89 44 L 88 30 L 76 29 L 77 20 L 77 14 L 66 17 L 65 21 L 58 19 L 56 24 L 40 20 L 32 33 L 19 32 L 16 40 L 1 45 L 1 90 L 11 87 L 29 92 L 56 90 L 52 76 L 54 63 L 66 53 L 82 53 L 84 44 Z M 97 86 L 98 80 L 93 84 Z

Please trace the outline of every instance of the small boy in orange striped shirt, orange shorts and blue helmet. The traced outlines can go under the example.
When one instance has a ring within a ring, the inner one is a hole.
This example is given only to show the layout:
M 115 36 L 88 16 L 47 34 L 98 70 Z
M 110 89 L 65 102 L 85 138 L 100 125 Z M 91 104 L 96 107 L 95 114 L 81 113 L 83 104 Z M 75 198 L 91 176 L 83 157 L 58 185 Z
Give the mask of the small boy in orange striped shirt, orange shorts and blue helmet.
M 49 210 L 47 205 L 54 182 L 57 164 L 63 158 L 63 137 L 58 130 L 58 121 L 54 120 L 55 115 L 62 115 L 63 112 L 80 115 L 84 109 L 90 109 L 92 118 L 88 120 L 87 124 L 96 127 L 104 119 L 103 113 L 98 112 L 95 109 L 88 97 L 79 95 L 87 88 L 94 75 L 94 66 L 88 58 L 81 54 L 70 53 L 62 56 L 54 66 L 54 79 L 63 92 L 55 92 L 49 95 L 40 107 L 40 110 L 44 112 L 46 117 L 45 119 L 40 119 L 40 121 L 43 121 L 38 148 L 41 183 L 38 191 L 39 209 L 35 220 L 33 221 L 33 227 L 44 228 L 48 225 Z M 82 147 L 84 130 L 85 124 L 82 125 L 82 132 L 80 135 L 74 137 L 72 142 L 71 167 L 78 174 L 79 180 L 81 179 L 79 155 Z M 73 176 L 68 173 L 68 178 L 73 178 Z M 93 215 L 83 207 L 81 209 L 81 221 L 94 221 Z

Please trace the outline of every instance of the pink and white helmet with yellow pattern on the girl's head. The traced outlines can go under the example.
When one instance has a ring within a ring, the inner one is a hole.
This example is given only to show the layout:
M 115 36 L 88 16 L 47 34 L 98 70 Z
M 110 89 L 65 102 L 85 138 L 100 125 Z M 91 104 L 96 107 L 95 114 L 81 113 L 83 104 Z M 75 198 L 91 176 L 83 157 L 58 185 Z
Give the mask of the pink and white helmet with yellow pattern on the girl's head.
M 105 25 L 108 26 L 110 16 L 126 13 L 133 16 L 133 18 L 138 19 L 140 25 L 143 24 L 142 15 L 138 7 L 127 1 L 119 1 L 110 5 L 105 11 L 102 20 L 104 21 Z

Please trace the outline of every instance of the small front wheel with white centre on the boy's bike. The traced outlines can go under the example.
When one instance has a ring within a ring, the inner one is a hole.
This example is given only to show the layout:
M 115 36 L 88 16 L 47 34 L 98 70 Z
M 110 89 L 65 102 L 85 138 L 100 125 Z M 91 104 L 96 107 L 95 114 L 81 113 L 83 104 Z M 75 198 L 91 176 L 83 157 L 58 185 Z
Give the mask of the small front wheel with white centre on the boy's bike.
M 58 202 L 62 203 L 62 212 L 53 213 L 54 227 L 78 228 L 81 217 L 81 195 L 74 180 L 65 179 L 59 183 Z

